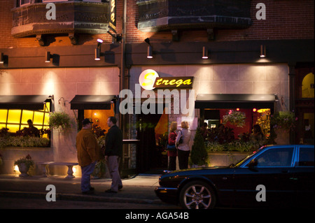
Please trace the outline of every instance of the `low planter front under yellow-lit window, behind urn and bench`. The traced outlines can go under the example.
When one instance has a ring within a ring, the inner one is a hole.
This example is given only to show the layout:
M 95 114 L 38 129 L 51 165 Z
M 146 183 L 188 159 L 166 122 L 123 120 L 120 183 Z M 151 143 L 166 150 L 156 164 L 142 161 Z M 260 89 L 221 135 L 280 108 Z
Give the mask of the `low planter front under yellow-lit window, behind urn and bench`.
M 0 166 L 1 174 L 16 174 L 13 170 L 14 161 L 21 157 L 26 157 L 30 154 L 31 159 L 34 161 L 34 168 L 30 169 L 31 175 L 41 175 L 41 165 L 39 163 L 51 160 L 52 148 L 50 147 L 6 147 L 1 149 L 2 166 Z M 20 174 L 20 173 L 19 173 Z

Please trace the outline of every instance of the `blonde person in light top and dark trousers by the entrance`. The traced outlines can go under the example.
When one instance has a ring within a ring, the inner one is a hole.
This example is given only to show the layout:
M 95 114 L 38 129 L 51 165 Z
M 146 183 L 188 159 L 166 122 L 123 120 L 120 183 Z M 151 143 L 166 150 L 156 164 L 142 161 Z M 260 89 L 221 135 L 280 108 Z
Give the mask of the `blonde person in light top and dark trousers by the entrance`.
M 190 137 L 191 132 L 188 130 L 188 122 L 181 122 L 182 130 L 179 131 L 179 134 L 176 137 L 176 148 L 177 156 L 179 157 L 179 169 L 188 168 L 188 159 L 190 154 Z M 182 143 L 179 143 L 181 137 L 183 138 Z

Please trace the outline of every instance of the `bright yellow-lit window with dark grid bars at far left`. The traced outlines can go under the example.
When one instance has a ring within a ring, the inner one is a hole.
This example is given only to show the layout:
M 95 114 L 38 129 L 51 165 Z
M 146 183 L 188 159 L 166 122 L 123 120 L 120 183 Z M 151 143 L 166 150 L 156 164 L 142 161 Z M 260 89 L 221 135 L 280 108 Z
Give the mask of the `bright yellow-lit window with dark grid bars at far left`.
M 16 133 L 29 127 L 27 120 L 31 120 L 38 130 L 49 129 L 48 119 L 50 102 L 45 102 L 42 110 L 0 109 L 0 129 L 7 128 L 10 133 Z M 43 138 L 49 138 L 43 134 Z

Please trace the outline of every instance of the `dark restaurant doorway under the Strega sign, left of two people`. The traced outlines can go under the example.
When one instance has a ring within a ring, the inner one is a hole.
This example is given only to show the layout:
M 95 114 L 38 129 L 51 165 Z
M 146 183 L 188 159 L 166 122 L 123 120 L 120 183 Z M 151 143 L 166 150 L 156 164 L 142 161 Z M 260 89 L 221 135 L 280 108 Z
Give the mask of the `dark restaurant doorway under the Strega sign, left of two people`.
M 167 169 L 165 140 L 168 130 L 168 115 L 137 115 L 137 139 L 140 140 L 137 150 L 138 173 L 161 173 Z

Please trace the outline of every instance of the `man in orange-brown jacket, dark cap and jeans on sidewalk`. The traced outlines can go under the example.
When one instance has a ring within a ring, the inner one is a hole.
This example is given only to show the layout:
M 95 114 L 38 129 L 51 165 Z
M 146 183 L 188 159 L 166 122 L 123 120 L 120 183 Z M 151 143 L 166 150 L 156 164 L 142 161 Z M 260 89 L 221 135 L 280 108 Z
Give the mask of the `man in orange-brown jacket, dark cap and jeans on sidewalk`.
M 76 136 L 76 150 L 78 164 L 81 166 L 81 191 L 82 194 L 93 194 L 94 188 L 90 185 L 90 175 L 94 171 L 97 161 L 101 159 L 101 150 L 95 136 L 92 134 L 92 123 L 88 118 L 83 120 L 83 128 Z

